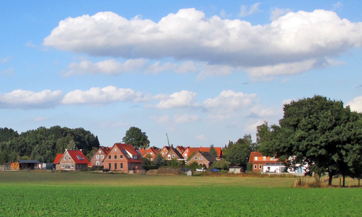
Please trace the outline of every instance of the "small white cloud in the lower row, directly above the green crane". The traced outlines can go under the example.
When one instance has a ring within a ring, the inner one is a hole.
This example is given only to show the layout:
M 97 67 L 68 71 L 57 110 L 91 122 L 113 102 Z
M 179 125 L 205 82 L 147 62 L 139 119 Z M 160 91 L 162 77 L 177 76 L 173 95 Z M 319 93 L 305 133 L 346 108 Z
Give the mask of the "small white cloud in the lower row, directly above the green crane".
M 190 91 L 180 91 L 172 93 L 166 99 L 160 101 L 156 108 L 182 108 L 182 107 L 195 107 L 198 106 L 195 103 L 196 93 Z

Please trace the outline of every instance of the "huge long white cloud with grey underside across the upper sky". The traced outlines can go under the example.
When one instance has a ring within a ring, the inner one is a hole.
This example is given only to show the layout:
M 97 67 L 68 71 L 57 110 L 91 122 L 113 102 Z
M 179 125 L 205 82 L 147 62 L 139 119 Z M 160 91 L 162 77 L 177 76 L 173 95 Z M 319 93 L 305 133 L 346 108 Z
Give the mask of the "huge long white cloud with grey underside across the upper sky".
M 258 3 L 246 11 L 256 12 L 257 8 Z M 174 58 L 248 68 L 257 76 L 260 73 L 253 69 L 263 69 L 260 76 L 268 76 L 279 75 L 274 70 L 278 67 L 292 67 L 292 72 L 282 74 L 323 67 L 308 63 L 360 47 L 362 22 L 350 22 L 324 10 L 289 12 L 270 24 L 255 26 L 219 16 L 206 18 L 193 8 L 170 13 L 157 23 L 99 12 L 60 21 L 43 44 L 95 56 Z

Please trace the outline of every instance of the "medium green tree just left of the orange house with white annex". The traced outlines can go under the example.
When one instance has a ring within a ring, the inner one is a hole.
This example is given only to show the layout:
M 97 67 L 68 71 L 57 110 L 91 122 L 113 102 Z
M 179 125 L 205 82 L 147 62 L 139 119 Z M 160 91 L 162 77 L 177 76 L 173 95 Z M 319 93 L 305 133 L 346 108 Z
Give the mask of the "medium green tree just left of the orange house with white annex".
M 229 142 L 226 149 L 226 159 L 228 162 L 237 164 L 246 164 L 252 151 L 253 142 L 250 134 L 245 134 L 243 138 L 239 138 L 235 143 Z

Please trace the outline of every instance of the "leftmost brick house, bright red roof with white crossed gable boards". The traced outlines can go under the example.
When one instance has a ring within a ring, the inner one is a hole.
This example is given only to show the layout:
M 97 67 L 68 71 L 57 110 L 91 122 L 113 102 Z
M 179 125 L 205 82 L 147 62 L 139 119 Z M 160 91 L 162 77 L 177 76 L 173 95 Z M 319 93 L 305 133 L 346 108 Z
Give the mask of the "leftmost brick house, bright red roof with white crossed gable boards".
M 81 170 L 88 167 L 89 160 L 82 150 L 68 150 L 58 154 L 54 160 L 56 170 Z

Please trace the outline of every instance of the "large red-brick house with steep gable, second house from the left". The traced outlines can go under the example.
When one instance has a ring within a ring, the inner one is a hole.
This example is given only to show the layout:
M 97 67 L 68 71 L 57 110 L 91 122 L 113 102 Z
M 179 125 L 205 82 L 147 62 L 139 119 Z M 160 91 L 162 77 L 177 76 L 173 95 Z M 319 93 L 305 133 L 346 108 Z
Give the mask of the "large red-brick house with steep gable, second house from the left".
M 133 173 L 142 170 L 141 154 L 131 144 L 114 143 L 105 156 L 104 169 Z

